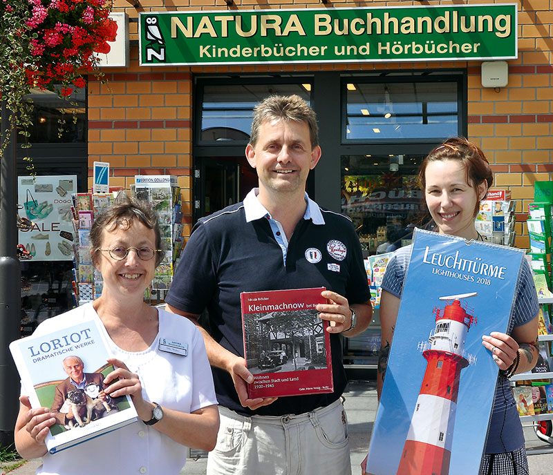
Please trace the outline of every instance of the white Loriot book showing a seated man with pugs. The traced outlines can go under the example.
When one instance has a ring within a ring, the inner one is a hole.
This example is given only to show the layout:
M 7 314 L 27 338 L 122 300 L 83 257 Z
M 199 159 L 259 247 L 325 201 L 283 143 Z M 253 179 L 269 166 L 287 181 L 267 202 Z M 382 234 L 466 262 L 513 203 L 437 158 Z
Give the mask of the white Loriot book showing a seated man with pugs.
M 50 454 L 101 436 L 138 420 L 129 396 L 104 400 L 100 387 L 113 366 L 106 360 L 111 353 L 103 329 L 96 319 L 83 320 L 52 333 L 32 335 L 10 343 L 15 365 L 21 376 L 22 394 L 29 396 L 31 407 L 48 407 L 63 416 L 64 424 L 50 427 L 46 448 Z M 86 386 L 77 389 L 66 373 L 64 360 L 82 360 Z M 57 399 L 57 403 L 55 400 Z M 63 403 L 61 407 L 53 407 Z

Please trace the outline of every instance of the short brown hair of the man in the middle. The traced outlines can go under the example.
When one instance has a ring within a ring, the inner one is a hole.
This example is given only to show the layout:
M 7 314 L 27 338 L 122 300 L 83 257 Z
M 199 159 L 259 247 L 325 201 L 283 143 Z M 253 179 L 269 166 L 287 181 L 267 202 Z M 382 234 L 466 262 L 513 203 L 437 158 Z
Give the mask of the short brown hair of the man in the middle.
M 254 107 L 254 120 L 250 133 L 251 146 L 255 146 L 257 142 L 261 124 L 269 120 L 305 122 L 309 127 L 311 147 L 315 148 L 319 145 L 317 115 L 308 102 L 299 95 L 273 95 L 263 99 Z

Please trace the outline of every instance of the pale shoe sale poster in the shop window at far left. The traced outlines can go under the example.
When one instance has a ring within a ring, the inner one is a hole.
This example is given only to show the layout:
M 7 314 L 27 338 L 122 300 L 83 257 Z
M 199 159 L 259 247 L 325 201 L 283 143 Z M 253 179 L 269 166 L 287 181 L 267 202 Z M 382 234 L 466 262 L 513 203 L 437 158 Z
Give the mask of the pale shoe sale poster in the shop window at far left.
M 18 177 L 19 215 L 32 222 L 19 231 L 19 243 L 32 260 L 73 260 L 71 195 L 77 193 L 75 175 Z

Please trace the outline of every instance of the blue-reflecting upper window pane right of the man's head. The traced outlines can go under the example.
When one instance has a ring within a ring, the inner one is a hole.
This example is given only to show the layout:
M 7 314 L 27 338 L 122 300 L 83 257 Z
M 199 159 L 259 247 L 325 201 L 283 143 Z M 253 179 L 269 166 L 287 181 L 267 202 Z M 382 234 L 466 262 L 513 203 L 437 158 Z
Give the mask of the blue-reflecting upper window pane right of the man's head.
M 346 83 L 346 139 L 458 135 L 457 82 Z

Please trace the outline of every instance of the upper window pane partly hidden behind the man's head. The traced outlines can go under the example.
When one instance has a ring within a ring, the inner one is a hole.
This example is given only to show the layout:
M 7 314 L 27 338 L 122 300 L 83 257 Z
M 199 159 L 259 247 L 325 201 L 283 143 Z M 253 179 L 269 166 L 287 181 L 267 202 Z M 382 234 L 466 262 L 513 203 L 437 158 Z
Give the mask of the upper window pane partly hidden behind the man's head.
M 311 84 L 206 84 L 203 91 L 203 142 L 250 139 L 254 106 L 270 95 L 297 94 L 310 101 Z

